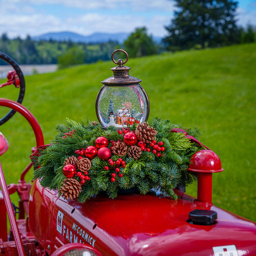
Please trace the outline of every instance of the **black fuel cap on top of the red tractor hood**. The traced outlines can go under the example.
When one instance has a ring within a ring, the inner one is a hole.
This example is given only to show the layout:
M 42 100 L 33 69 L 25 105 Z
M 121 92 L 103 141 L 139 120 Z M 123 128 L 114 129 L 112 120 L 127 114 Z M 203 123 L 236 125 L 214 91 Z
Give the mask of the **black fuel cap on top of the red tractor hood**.
M 192 210 L 188 214 L 188 223 L 196 225 L 213 225 L 217 220 L 217 212 L 214 210 Z

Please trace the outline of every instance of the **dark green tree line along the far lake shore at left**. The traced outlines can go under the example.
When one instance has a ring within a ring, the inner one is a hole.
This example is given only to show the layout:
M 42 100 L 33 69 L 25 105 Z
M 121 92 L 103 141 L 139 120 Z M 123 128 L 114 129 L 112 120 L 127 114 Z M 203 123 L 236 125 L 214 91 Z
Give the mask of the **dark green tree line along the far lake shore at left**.
M 98 60 L 109 60 L 110 54 L 118 42 L 109 41 L 98 44 L 75 43 L 72 41 L 34 41 L 30 36 L 25 39 L 9 39 L 6 33 L 0 37 L 0 50 L 14 58 L 19 64 L 40 65 L 57 64 L 63 56 L 75 53 L 80 63 L 92 63 Z M 0 65 L 4 65 L 0 62 Z

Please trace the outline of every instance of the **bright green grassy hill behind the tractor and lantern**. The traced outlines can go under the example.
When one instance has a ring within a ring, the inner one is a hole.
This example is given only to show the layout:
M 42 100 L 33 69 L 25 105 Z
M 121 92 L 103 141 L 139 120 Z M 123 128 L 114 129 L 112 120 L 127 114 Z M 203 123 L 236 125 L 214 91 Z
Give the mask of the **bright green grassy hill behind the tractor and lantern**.
M 214 204 L 256 221 L 256 44 L 130 59 L 127 65 L 130 75 L 142 79 L 150 119 L 161 116 L 183 127 L 198 126 L 201 142 L 220 156 L 225 170 L 214 174 Z M 66 117 L 97 119 L 100 81 L 112 76 L 113 66 L 100 62 L 26 77 L 23 105 L 38 119 L 46 143 Z M 17 92 L 5 87 L 0 97 L 15 99 Z M 0 158 L 7 183 L 17 182 L 35 144 L 33 132 L 19 114 L 0 130 L 10 144 Z M 187 192 L 196 196 L 196 184 Z

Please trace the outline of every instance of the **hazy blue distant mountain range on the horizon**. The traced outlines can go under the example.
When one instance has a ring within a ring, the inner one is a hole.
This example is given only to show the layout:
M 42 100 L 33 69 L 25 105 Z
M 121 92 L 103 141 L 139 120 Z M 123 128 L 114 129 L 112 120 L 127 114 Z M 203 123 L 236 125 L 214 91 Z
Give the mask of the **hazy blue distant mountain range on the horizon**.
M 108 42 L 117 41 L 119 43 L 124 42 L 129 36 L 129 33 L 93 33 L 89 36 L 82 36 L 82 34 L 73 33 L 70 31 L 63 32 L 51 32 L 46 34 L 41 34 L 39 36 L 32 37 L 33 40 L 46 40 L 50 39 L 55 41 L 73 41 L 73 42 L 86 42 L 86 43 L 98 43 L 98 42 Z M 160 42 L 160 37 L 153 37 L 155 42 Z

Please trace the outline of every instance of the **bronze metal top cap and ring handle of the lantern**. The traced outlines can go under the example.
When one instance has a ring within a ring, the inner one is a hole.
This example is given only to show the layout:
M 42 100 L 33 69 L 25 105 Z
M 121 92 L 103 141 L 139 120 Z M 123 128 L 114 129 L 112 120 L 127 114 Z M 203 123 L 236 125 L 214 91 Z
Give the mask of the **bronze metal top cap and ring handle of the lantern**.
M 126 54 L 126 60 L 119 59 L 118 61 L 114 60 L 114 54 L 116 52 L 124 52 Z M 102 81 L 102 84 L 105 86 L 127 86 L 130 84 L 138 84 L 142 80 L 138 78 L 134 78 L 133 76 L 129 76 L 129 66 L 124 66 L 124 64 L 128 61 L 129 55 L 125 50 L 117 49 L 114 50 L 114 52 L 111 55 L 112 61 L 117 64 L 118 66 L 114 66 L 114 68 L 111 68 L 113 71 L 113 76 L 111 78 L 107 78 L 104 81 Z

